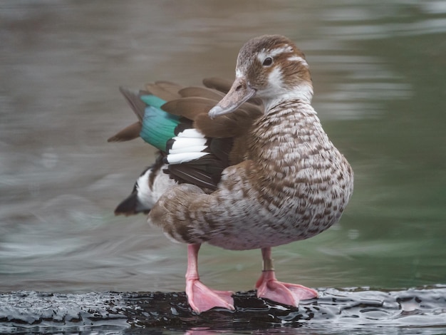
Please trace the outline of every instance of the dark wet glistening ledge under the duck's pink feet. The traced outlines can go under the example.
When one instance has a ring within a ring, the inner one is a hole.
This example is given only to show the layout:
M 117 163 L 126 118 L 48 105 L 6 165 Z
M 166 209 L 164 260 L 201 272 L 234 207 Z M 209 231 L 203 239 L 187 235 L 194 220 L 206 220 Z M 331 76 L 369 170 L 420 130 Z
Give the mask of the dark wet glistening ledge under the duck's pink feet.
M 372 289 L 319 289 L 321 297 L 291 308 L 238 292 L 235 311 L 196 314 L 184 292 L 0 294 L 0 331 L 5 329 L 115 326 L 119 328 L 269 329 L 321 325 L 380 324 L 445 326 L 446 287 L 385 292 Z

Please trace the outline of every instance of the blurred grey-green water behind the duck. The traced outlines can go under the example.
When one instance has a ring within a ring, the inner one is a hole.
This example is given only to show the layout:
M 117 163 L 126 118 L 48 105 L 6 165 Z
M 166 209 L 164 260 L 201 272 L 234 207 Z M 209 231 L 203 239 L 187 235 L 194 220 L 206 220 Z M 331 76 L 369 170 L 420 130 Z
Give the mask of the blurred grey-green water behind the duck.
M 185 245 L 115 217 L 154 160 L 118 86 L 234 78 L 247 39 L 281 33 L 356 172 L 327 232 L 274 249 L 285 282 L 446 283 L 446 1 L 0 1 L 0 292 L 182 291 Z M 258 250 L 203 246 L 203 282 L 247 290 Z

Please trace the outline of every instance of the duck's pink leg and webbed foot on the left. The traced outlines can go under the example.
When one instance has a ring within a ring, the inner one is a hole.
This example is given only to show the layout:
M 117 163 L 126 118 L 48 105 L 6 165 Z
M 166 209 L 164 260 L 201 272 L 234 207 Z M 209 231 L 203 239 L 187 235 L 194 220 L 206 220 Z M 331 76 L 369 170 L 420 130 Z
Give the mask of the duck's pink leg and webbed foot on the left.
M 201 244 L 187 245 L 186 294 L 190 306 L 197 313 L 213 307 L 234 309 L 234 292 L 215 291 L 202 284 L 198 275 L 198 250 Z

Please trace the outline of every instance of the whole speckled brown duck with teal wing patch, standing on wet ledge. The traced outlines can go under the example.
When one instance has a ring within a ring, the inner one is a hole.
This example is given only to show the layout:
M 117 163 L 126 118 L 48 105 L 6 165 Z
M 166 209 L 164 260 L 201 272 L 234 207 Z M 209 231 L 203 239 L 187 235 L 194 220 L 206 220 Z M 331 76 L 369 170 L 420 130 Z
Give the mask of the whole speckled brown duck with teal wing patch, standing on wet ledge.
M 109 141 L 141 137 L 158 158 L 115 214 L 144 212 L 167 237 L 187 244 L 185 291 L 197 313 L 234 310 L 233 292 L 200 280 L 203 243 L 260 249 L 260 299 L 299 306 L 317 298 L 315 289 L 276 279 L 271 255 L 338 222 L 353 194 L 353 169 L 311 105 L 304 53 L 286 36 L 257 36 L 240 49 L 234 81 L 203 83 L 120 89 L 138 121 Z

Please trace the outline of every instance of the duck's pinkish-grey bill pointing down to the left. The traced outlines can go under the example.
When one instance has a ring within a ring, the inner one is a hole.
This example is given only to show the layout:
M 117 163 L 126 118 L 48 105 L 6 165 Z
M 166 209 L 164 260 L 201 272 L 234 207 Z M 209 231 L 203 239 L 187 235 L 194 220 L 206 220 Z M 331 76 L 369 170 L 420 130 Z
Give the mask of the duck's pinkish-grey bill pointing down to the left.
M 242 103 L 255 95 L 256 90 L 248 85 L 245 78 L 236 78 L 227 95 L 214 108 L 209 110 L 209 118 L 216 118 L 219 115 L 232 113 Z

